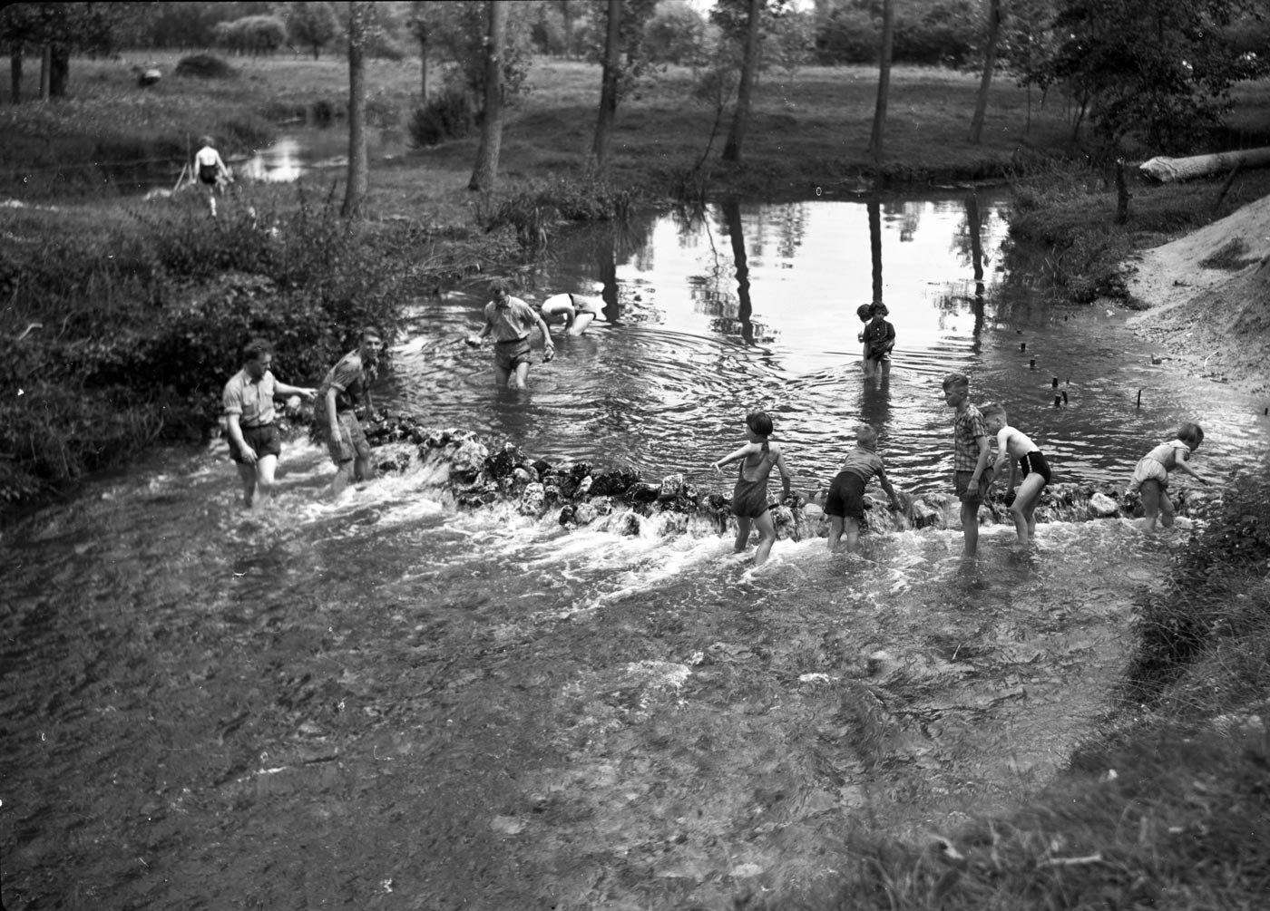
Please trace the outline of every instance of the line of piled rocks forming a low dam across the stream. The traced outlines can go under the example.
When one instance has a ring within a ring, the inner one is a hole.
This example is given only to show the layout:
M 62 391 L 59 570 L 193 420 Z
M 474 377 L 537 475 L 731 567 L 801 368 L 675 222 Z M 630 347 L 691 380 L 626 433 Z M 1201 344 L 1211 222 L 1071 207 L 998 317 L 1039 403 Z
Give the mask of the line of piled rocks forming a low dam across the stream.
M 649 481 L 631 468 L 605 469 L 589 462 L 551 464 L 513 443 L 500 447 L 475 433 L 424 428 L 409 417 L 380 416 L 367 426 L 380 471 L 410 472 L 448 494 L 460 508 L 513 504 L 527 516 L 555 514 L 566 528 L 596 527 L 618 534 L 728 534 L 735 527 L 732 497 L 702 491 L 682 473 Z M 824 490 L 771 500 L 780 539 L 826 537 Z M 959 527 L 959 502 L 951 494 L 900 494 L 903 510 L 890 508 L 870 488 L 865 527 L 875 534 L 906 529 Z M 1012 492 L 993 490 L 979 510 L 980 524 L 1010 523 Z M 1200 491 L 1175 491 L 1179 514 L 1203 515 L 1212 497 Z M 1142 515 L 1137 494 L 1092 483 L 1053 483 L 1045 488 L 1036 520 L 1085 521 Z

